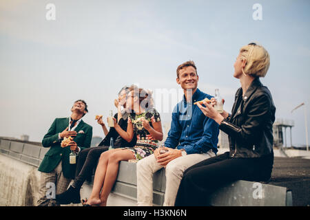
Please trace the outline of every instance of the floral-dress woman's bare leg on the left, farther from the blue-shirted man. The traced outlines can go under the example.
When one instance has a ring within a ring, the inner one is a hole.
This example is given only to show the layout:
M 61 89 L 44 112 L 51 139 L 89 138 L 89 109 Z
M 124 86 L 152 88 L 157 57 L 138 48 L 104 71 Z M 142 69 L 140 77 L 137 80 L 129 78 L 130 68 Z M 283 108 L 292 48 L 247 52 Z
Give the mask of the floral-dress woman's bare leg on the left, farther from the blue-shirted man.
M 99 205 L 101 203 L 100 191 L 103 186 L 103 181 L 105 180 L 105 173 L 107 171 L 107 164 L 110 160 L 110 156 L 113 155 L 115 151 L 120 151 L 121 149 L 112 149 L 110 151 L 105 151 L 101 153 L 99 163 L 96 168 L 96 173 L 94 175 L 94 185 L 92 187 L 92 194 L 90 199 L 87 200 L 87 204 Z

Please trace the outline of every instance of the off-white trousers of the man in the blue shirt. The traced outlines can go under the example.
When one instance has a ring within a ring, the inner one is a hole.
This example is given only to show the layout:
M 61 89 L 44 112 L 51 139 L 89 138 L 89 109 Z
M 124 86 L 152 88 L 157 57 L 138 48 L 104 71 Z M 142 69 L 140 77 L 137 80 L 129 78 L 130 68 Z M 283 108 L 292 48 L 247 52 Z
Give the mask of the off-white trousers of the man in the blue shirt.
M 210 150 L 207 153 L 194 153 L 178 157 L 169 162 L 165 170 L 166 190 L 163 206 L 174 206 L 176 194 L 178 193 L 178 186 L 187 168 L 214 156 L 215 153 Z M 163 168 L 163 166 L 158 164 L 154 154 L 138 161 L 136 166 L 138 206 L 153 205 L 153 175 L 161 168 Z

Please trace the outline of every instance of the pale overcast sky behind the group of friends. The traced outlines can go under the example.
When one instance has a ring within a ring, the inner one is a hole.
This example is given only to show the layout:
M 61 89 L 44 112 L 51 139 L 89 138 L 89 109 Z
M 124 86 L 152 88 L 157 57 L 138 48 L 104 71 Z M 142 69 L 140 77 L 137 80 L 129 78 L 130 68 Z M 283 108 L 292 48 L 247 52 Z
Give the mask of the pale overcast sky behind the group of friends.
M 46 18 L 48 3 L 55 20 Z M 262 20 L 254 20 L 255 3 Z M 82 98 L 89 106 L 83 120 L 103 137 L 94 116 L 115 112 L 116 94 L 132 83 L 152 89 L 169 123 L 171 110 L 159 96 L 178 91 L 176 67 L 188 60 L 196 63 L 198 88 L 211 95 L 219 88 L 230 112 L 240 87 L 232 76 L 238 50 L 256 41 L 271 57 L 262 83 L 273 95 L 276 118 L 294 120 L 293 144 L 305 144 L 304 111 L 291 110 L 305 102 L 309 119 L 309 27 L 307 0 L 1 0 L 0 136 L 41 141 L 54 118 L 68 117 Z

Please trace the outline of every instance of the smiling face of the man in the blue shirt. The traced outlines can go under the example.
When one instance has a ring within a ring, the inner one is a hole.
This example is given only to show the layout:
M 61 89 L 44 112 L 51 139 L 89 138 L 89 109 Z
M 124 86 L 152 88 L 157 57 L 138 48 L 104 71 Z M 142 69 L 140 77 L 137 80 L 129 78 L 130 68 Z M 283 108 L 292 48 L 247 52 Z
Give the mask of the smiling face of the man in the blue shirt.
M 182 89 L 192 89 L 193 91 L 196 91 L 199 80 L 196 69 L 192 66 L 183 67 L 178 73 L 176 83 L 178 83 Z

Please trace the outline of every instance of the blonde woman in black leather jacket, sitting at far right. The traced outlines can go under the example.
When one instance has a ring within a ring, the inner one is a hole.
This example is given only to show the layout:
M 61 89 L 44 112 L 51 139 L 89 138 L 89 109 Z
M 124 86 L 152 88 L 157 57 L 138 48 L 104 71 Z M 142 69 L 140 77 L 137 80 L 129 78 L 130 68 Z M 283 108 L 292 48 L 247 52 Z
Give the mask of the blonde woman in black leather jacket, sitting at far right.
M 276 107 L 260 77 L 267 74 L 269 54 L 264 47 L 249 43 L 241 47 L 234 64 L 234 77 L 241 87 L 236 92 L 231 115 L 218 113 L 208 104 L 198 104 L 228 134 L 229 152 L 205 159 L 185 170 L 176 206 L 208 206 L 216 189 L 233 181 L 267 181 L 273 166 L 273 133 Z

